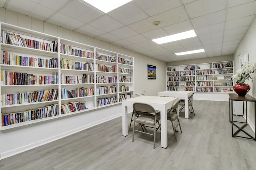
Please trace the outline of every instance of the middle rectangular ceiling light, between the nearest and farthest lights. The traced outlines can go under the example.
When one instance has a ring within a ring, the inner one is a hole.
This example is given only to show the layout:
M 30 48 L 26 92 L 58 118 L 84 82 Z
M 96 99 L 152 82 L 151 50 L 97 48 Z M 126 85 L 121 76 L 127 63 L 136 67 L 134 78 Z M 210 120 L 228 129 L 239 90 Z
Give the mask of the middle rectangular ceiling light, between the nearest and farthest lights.
M 178 41 L 180 39 L 186 39 L 186 38 L 190 38 L 190 37 L 196 37 L 196 33 L 195 33 L 194 29 L 192 29 L 190 31 L 185 31 L 182 33 L 177 33 L 174 35 L 169 35 L 166 37 L 152 39 L 152 41 L 154 41 L 158 44 L 163 44 L 163 43 L 169 43 L 172 41 Z

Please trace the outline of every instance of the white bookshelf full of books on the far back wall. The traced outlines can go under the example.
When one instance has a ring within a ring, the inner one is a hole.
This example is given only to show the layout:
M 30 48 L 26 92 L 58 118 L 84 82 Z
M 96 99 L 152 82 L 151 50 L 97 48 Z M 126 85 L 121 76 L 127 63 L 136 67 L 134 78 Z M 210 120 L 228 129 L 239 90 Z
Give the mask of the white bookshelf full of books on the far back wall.
M 233 61 L 166 67 L 166 90 L 233 92 Z

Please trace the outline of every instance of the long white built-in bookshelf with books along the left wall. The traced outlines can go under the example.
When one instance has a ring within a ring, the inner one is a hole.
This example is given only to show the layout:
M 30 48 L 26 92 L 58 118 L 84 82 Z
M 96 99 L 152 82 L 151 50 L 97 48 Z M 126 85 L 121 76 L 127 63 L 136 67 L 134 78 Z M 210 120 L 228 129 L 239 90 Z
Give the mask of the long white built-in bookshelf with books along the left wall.
M 0 26 L 0 130 L 87 113 L 134 96 L 133 57 Z

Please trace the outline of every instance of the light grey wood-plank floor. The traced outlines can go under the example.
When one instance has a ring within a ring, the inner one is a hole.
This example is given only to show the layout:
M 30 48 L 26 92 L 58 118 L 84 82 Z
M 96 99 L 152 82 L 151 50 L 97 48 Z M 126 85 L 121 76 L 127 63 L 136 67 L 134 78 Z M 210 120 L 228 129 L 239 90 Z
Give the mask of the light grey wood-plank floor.
M 0 160 L 0 170 L 255 170 L 256 141 L 231 137 L 228 102 L 194 100 L 196 116 L 180 113 L 182 132 L 168 147 L 153 137 L 122 136 L 122 118 Z M 130 119 L 131 114 L 128 115 Z M 253 133 L 247 127 L 247 131 Z

